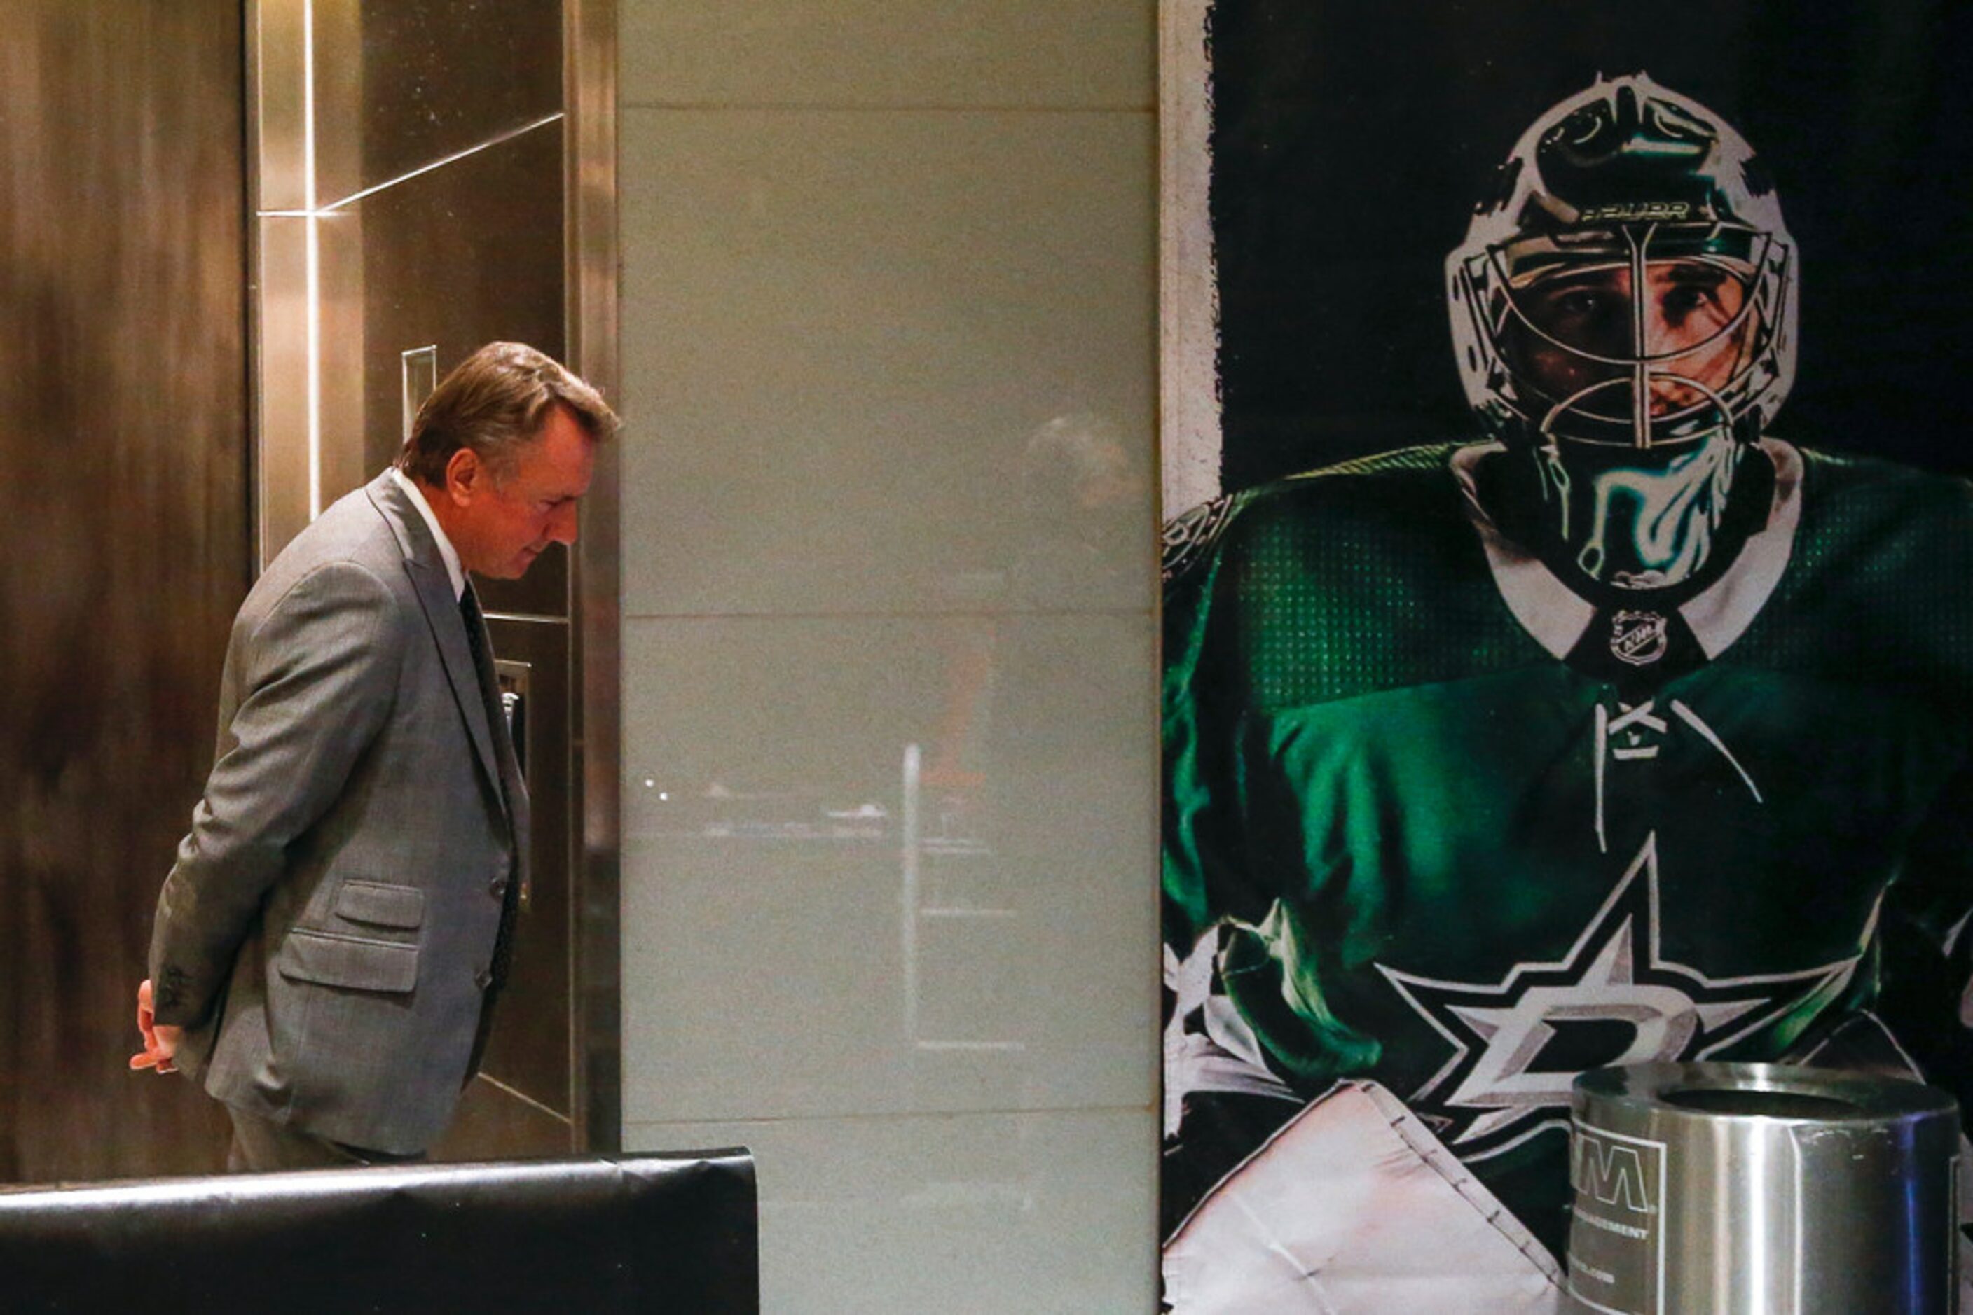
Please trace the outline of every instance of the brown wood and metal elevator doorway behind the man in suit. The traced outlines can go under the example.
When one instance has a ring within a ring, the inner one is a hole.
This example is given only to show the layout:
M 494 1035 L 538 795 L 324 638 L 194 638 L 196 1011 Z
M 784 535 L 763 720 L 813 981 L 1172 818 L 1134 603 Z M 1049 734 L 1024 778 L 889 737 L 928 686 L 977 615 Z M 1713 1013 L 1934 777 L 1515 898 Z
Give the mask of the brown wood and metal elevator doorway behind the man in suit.
M 614 6 L 0 20 L 0 1181 L 211 1171 L 217 1106 L 124 1057 L 233 609 L 479 341 L 614 392 Z M 535 883 L 440 1157 L 616 1145 L 614 475 L 574 552 L 481 588 Z

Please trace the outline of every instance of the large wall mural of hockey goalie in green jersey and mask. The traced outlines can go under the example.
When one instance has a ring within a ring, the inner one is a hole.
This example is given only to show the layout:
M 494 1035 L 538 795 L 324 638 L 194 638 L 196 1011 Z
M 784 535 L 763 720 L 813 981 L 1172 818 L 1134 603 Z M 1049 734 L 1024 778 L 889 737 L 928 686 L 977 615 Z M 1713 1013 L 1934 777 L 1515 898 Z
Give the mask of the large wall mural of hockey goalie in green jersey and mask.
M 1567 1309 L 1584 1069 L 1973 1106 L 1967 20 L 1363 8 L 1168 14 L 1178 1315 Z

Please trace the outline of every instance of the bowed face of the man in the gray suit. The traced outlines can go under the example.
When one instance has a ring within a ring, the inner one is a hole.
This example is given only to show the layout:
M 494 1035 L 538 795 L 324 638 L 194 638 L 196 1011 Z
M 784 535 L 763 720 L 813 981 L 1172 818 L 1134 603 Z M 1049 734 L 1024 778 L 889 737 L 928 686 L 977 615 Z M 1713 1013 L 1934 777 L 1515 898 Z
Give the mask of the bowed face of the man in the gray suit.
M 576 501 L 596 469 L 596 440 L 566 408 L 548 412 L 535 442 L 495 475 L 468 450 L 446 467 L 446 536 L 466 570 L 517 580 L 548 544 L 576 542 Z

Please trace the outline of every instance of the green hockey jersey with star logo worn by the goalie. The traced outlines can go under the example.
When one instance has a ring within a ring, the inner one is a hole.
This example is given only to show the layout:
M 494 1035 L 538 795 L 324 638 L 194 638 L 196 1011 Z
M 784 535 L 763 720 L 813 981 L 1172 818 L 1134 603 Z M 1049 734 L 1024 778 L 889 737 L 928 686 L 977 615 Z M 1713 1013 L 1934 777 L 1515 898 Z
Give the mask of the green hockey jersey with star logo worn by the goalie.
M 1168 964 L 1211 958 L 1233 1039 L 1196 1065 L 1168 1027 L 1168 1132 L 1200 1092 L 1286 1120 L 1369 1078 L 1559 1252 L 1582 1069 L 1882 1021 L 1937 1080 L 1973 1071 L 1973 489 L 1764 450 L 1768 526 L 1677 615 L 1598 611 L 1501 538 L 1492 448 L 1174 522 L 1164 933 Z M 1673 631 L 1703 658 L 1657 684 L 1578 660 Z

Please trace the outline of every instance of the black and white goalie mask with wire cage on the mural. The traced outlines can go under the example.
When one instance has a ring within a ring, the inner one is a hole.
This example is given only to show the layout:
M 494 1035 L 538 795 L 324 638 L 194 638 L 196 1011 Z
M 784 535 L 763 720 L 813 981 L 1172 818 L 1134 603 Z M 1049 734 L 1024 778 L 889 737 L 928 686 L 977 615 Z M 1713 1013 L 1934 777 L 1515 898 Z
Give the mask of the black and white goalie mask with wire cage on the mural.
M 1744 457 L 1793 381 L 1782 207 L 1738 132 L 1644 75 L 1551 108 L 1499 181 L 1446 256 L 1466 398 L 1533 457 L 1547 550 L 1691 582 L 1736 548 L 1734 485 L 1768 489 Z

